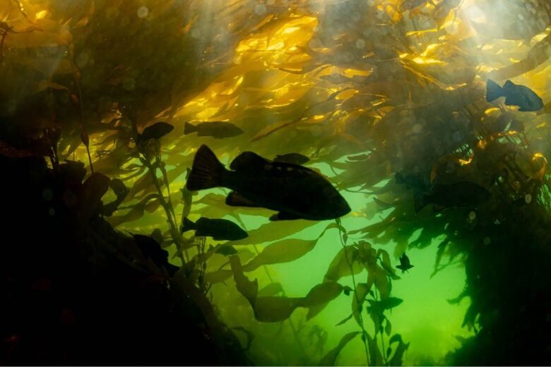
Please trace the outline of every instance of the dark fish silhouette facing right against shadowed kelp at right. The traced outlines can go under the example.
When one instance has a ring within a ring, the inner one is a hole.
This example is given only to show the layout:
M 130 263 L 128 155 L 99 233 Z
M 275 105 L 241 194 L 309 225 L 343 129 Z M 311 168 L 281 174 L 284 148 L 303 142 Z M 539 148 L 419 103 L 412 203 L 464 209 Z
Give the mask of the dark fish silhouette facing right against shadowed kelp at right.
M 443 207 L 470 207 L 485 203 L 490 192 L 482 186 L 469 181 L 448 184 L 437 183 L 428 194 L 415 195 L 415 212 L 427 204 Z

